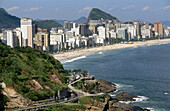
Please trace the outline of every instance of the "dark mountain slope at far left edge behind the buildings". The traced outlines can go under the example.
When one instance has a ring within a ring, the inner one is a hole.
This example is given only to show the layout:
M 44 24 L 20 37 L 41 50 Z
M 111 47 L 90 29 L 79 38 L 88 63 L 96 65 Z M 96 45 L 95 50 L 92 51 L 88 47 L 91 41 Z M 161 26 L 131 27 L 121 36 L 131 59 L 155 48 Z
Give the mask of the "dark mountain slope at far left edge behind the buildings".
M 16 28 L 19 27 L 20 18 L 10 15 L 3 8 L 0 8 L 0 30 L 2 28 Z

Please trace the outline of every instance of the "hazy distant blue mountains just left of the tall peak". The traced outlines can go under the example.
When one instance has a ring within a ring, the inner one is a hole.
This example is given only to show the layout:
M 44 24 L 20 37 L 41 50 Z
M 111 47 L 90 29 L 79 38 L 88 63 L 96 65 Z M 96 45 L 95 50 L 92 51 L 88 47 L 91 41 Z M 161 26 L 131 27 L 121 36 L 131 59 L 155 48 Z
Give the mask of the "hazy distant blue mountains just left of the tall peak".
M 61 25 L 64 25 L 65 21 L 76 22 L 77 24 L 81 24 L 81 23 L 86 23 L 87 22 L 87 18 L 86 17 L 80 17 L 77 20 L 54 20 L 54 21 L 58 22 Z

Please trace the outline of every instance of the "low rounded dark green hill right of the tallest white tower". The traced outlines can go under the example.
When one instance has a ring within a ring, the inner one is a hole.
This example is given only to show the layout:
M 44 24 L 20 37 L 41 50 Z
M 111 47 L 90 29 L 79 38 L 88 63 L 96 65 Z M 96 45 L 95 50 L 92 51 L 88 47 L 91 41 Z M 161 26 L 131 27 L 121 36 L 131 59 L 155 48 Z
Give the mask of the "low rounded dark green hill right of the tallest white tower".
M 39 28 L 43 28 L 43 29 L 48 29 L 51 30 L 51 28 L 54 27 L 62 27 L 61 24 L 57 23 L 54 20 L 41 20 L 41 21 L 34 21 L 35 24 L 38 25 Z

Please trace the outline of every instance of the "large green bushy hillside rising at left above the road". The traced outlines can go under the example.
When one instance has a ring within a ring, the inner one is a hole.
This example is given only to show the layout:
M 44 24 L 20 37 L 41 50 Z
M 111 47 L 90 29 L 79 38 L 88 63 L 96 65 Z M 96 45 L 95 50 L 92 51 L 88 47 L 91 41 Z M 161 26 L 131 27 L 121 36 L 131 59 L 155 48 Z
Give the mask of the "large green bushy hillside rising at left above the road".
M 12 86 L 24 97 L 38 100 L 53 96 L 58 90 L 67 88 L 67 74 L 58 60 L 40 50 L 12 49 L 0 41 L 0 82 Z M 36 89 L 34 81 L 42 88 Z

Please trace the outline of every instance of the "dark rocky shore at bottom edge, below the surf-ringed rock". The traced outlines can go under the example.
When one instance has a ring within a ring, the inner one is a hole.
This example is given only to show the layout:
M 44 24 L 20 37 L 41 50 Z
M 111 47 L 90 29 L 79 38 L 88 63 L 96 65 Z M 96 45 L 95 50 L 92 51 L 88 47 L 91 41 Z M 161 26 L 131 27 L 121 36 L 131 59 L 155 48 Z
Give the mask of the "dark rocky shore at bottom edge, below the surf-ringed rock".
M 145 111 L 144 109 L 120 102 L 109 102 L 108 111 Z

